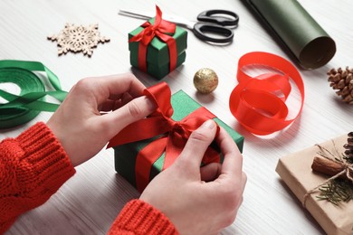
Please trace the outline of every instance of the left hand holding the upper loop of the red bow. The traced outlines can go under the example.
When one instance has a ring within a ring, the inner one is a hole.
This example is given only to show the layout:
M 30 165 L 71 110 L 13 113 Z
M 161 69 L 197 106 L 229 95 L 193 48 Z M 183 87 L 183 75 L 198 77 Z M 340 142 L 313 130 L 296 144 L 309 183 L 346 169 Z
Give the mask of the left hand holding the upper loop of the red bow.
M 132 74 L 83 79 L 72 87 L 47 126 L 74 166 L 100 152 L 122 128 L 155 110 L 155 104 L 142 96 L 143 89 Z

